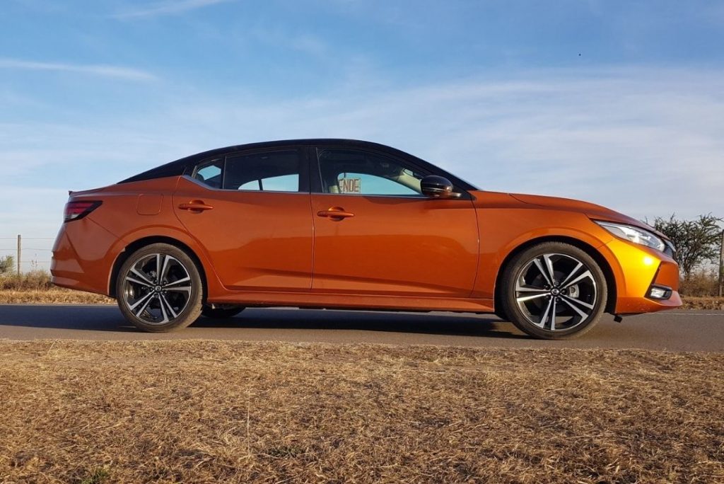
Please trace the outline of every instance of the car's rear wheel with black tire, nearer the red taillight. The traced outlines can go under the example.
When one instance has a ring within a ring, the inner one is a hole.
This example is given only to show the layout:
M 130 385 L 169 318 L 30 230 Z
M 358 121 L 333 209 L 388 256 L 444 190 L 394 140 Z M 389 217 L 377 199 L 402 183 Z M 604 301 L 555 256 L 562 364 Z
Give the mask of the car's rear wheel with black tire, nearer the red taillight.
M 116 279 L 118 307 L 143 331 L 164 333 L 201 314 L 203 283 L 193 259 L 176 246 L 153 243 L 131 254 Z

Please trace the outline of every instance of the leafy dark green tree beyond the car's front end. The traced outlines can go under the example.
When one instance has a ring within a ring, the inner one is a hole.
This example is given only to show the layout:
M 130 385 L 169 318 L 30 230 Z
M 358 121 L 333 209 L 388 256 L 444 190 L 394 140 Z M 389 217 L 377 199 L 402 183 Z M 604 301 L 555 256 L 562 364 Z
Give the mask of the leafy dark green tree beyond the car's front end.
M 712 214 L 699 215 L 698 220 L 678 220 L 675 214 L 668 220 L 656 217 L 654 228 L 671 239 L 676 247 L 676 262 L 684 280 L 704 262 L 719 262 L 722 228 L 724 221 Z

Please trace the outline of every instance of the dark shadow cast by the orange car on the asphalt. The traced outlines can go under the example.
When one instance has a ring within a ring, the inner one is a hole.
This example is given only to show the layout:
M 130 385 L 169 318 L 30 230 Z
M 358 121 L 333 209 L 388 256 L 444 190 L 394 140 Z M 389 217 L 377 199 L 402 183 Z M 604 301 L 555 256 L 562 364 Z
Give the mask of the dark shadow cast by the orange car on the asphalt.
M 32 327 L 49 330 L 138 332 L 123 319 L 116 306 L 0 305 L 2 327 Z M 399 313 L 329 311 L 321 309 L 246 309 L 230 319 L 199 318 L 189 328 L 190 337 L 199 330 L 213 338 L 214 328 L 256 330 L 360 330 L 391 333 L 478 336 L 482 338 L 528 338 L 509 322 L 489 314 Z M 225 336 L 229 336 L 224 331 Z M 40 334 L 37 337 L 43 338 Z

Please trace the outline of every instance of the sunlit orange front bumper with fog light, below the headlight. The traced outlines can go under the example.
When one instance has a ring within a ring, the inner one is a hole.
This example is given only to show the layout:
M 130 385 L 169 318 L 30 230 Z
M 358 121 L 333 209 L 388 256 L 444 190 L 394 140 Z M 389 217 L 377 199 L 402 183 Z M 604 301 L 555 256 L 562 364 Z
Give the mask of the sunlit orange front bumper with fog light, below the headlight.
M 678 264 L 666 254 L 614 239 L 605 246 L 616 278 L 616 314 L 641 314 L 681 306 Z M 652 285 L 670 289 L 667 299 L 649 297 Z

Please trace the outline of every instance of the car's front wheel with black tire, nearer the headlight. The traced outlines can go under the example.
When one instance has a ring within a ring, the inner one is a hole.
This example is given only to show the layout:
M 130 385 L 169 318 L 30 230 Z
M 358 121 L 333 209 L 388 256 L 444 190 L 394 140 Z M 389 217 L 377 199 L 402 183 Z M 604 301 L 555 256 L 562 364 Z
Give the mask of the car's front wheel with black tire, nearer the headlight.
M 597 262 L 563 242 L 539 243 L 515 256 L 505 269 L 501 291 L 510 321 L 524 333 L 550 340 L 577 338 L 591 330 L 608 296 Z

